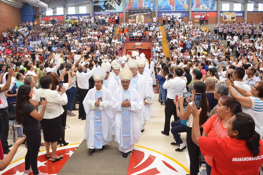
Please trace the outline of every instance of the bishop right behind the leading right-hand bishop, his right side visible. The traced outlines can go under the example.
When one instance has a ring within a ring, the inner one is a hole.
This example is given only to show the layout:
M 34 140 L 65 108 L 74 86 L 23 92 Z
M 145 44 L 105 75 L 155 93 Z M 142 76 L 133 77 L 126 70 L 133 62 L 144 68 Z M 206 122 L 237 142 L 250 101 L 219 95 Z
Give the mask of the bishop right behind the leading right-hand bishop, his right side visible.
M 138 74 L 138 62 L 129 59 L 127 62 L 127 66 L 132 72 L 132 78 L 131 78 L 131 87 L 136 89 L 138 93 L 141 95 L 141 98 L 143 99 L 143 117 L 144 121 L 150 121 L 150 115 L 148 113 L 148 110 L 146 110 L 146 105 L 151 105 L 153 104 L 152 98 L 151 98 L 151 93 L 148 88 L 147 80 L 145 77 L 141 74 Z M 141 132 L 144 131 L 144 124 L 142 125 Z

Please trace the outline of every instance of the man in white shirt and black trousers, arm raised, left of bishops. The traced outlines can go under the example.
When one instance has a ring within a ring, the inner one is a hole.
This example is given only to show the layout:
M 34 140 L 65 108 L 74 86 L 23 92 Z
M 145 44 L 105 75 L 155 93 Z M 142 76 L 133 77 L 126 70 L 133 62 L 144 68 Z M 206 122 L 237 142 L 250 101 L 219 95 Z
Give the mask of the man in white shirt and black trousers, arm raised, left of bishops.
M 89 79 L 93 74 L 93 71 L 96 68 L 96 64 L 92 61 L 93 68 L 91 71 L 84 73 L 85 67 L 80 65 L 77 71 L 77 84 L 78 84 L 78 94 L 79 94 L 79 111 L 78 118 L 86 120 L 86 113 L 83 107 L 83 100 L 86 97 L 89 89 Z

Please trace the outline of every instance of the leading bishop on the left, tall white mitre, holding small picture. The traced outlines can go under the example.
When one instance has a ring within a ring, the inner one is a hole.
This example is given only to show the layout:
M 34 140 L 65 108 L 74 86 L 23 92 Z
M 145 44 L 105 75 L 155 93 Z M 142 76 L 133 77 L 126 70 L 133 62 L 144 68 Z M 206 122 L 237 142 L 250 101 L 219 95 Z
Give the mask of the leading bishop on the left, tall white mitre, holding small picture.
M 112 141 L 111 92 L 103 88 L 105 71 L 98 66 L 93 72 L 95 87 L 88 91 L 83 106 L 86 112 L 85 139 L 87 140 L 88 153 L 95 149 L 103 150 Z

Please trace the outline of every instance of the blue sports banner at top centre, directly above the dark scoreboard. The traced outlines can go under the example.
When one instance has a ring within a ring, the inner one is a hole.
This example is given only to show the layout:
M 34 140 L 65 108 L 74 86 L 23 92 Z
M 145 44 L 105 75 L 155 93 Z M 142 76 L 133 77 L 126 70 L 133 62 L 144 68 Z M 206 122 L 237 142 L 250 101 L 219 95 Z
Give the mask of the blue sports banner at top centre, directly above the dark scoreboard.
M 126 12 L 128 12 L 131 7 L 149 7 L 151 11 L 155 11 L 154 1 L 157 0 L 126 0 Z

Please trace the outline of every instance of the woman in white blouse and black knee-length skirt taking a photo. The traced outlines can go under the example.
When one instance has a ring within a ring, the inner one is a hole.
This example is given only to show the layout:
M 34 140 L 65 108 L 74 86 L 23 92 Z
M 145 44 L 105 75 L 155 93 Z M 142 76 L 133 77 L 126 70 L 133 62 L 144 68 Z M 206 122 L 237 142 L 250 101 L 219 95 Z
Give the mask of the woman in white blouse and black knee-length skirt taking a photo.
M 44 117 L 41 121 L 45 147 L 46 147 L 46 158 L 50 159 L 52 163 L 62 160 L 62 156 L 57 155 L 57 141 L 61 137 L 61 114 L 64 112 L 62 105 L 67 104 L 67 95 L 65 87 L 60 88 L 62 95 L 52 88 L 52 78 L 50 76 L 43 76 L 40 79 L 42 89 L 37 90 L 36 99 L 40 100 L 40 97 L 46 97 L 47 106 L 39 106 L 39 111 L 43 107 L 46 108 Z M 58 89 L 58 88 L 57 88 Z M 52 156 L 50 155 L 50 144 L 52 148 Z

